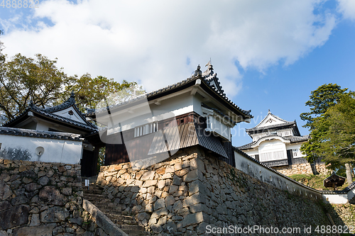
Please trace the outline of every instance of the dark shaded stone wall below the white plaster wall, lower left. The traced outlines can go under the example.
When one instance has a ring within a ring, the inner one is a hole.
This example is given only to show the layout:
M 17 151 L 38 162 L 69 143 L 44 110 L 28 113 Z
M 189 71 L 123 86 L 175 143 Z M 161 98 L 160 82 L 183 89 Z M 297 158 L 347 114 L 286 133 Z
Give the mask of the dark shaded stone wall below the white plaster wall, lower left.
M 0 235 L 104 235 L 82 208 L 80 165 L 0 159 Z

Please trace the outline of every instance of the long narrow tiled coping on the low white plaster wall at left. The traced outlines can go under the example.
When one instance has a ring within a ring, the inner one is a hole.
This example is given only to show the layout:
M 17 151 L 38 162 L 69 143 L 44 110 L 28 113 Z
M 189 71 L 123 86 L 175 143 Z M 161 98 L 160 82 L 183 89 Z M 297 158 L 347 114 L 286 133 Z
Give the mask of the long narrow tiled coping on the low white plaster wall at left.
M 84 140 L 81 137 L 81 135 L 77 135 L 77 134 L 73 134 L 73 133 L 28 130 L 28 129 L 9 128 L 9 127 L 0 127 L 0 134 L 26 136 L 26 137 L 51 138 L 51 139 L 58 139 L 58 140 L 75 140 L 75 141 L 83 141 Z

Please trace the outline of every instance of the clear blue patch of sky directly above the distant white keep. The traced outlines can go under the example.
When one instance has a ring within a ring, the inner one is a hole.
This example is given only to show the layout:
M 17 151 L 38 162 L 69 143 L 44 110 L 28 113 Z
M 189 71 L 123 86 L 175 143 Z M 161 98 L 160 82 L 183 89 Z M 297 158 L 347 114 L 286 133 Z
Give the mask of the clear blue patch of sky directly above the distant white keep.
M 300 113 L 309 111 L 305 102 L 310 92 L 322 84 L 335 83 L 342 88 L 355 90 L 355 24 L 342 21 L 332 31 L 327 43 L 317 47 L 294 64 L 276 65 L 265 74 L 251 69 L 244 72 L 244 89 L 234 101 L 242 108 L 251 109 L 254 120 L 241 123 L 240 136 L 234 137 L 235 145 L 251 142 L 243 130 L 252 128 L 271 110 L 285 120 L 296 120 L 301 135 L 309 132 L 302 128 L 305 122 Z

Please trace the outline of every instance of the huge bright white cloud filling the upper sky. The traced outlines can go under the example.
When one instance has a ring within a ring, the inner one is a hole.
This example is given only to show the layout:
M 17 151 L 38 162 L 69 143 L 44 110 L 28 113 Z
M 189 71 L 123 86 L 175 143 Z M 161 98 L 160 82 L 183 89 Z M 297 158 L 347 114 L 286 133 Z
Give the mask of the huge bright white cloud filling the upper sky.
M 147 91 L 190 77 L 211 57 L 233 96 L 242 84 L 236 60 L 262 71 L 327 41 L 335 18 L 315 15 L 318 2 L 41 1 L 33 30 L 14 29 L 1 40 L 8 55 L 58 57 L 67 74 L 139 81 Z M 54 26 L 45 26 L 46 18 Z

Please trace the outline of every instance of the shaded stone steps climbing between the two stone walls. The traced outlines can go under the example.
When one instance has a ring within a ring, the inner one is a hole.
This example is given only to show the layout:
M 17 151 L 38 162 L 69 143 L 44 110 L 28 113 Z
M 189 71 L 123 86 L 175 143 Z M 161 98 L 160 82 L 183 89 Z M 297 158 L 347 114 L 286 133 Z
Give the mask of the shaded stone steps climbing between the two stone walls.
M 96 186 L 96 184 L 90 184 L 89 190 L 87 186 L 84 186 L 84 199 L 87 199 L 92 204 L 97 206 L 99 210 L 102 211 L 107 217 L 115 223 L 121 230 L 126 232 L 127 235 L 138 236 L 138 235 L 151 235 L 146 232 L 143 226 L 138 225 L 138 222 L 131 215 L 123 215 L 119 208 L 117 208 L 116 203 L 111 203 L 109 198 L 102 195 L 103 188 L 101 186 Z

